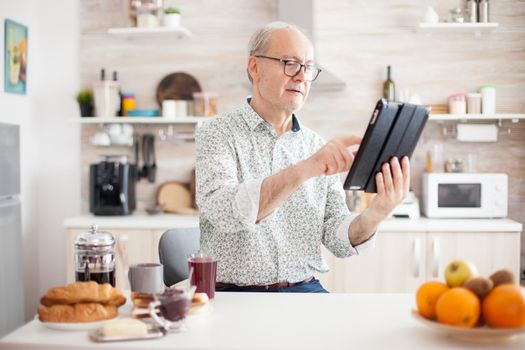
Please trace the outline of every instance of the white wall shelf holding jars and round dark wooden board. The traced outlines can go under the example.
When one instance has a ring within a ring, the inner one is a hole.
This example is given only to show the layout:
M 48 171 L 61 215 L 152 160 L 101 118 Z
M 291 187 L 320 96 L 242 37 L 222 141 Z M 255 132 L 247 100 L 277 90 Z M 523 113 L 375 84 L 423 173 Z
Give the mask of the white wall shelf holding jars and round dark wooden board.
M 213 117 L 181 117 L 175 119 L 168 119 L 163 117 L 114 117 L 114 118 L 103 118 L 103 117 L 87 117 L 87 118 L 74 118 L 71 119 L 73 123 L 79 124 L 196 124 L 201 125 L 202 123 L 213 120 Z

